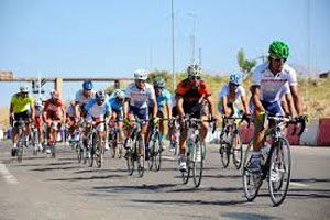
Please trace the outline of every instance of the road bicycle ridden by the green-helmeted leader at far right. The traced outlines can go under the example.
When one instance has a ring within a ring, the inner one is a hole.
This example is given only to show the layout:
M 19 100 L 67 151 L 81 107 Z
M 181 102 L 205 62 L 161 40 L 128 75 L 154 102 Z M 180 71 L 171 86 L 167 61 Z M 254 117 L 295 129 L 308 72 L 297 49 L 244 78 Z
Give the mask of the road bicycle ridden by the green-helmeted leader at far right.
M 307 118 L 301 121 L 292 120 L 286 117 L 266 116 L 266 119 L 275 123 L 275 127 L 270 128 L 265 134 L 264 145 L 265 143 L 271 145 L 270 152 L 262 155 L 261 173 L 253 174 L 249 169 L 253 151 L 252 141 L 250 142 L 243 161 L 243 187 L 246 199 L 253 201 L 258 194 L 263 180 L 267 178 L 271 200 L 274 206 L 279 206 L 287 195 L 292 172 L 290 146 L 287 139 L 282 134 L 282 127 L 289 123 L 300 123 L 301 128 L 298 135 L 301 135 L 306 128 Z M 295 133 L 296 130 L 294 130 Z M 263 152 L 265 152 L 264 148 L 265 146 L 262 148 Z

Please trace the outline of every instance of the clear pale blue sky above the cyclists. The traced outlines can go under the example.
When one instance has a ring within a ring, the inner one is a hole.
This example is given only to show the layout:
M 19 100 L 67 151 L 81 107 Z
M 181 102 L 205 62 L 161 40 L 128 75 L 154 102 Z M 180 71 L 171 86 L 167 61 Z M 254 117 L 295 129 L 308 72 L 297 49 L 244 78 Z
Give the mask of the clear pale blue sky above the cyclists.
M 240 48 L 257 58 L 273 40 L 289 45 L 289 64 L 330 70 L 329 11 L 328 0 L 174 0 L 175 70 L 195 57 L 205 72 L 228 75 Z M 172 72 L 172 48 L 170 0 L 0 0 L 0 70 L 15 77 Z M 0 106 L 19 86 L 0 82 Z M 80 87 L 66 84 L 64 99 Z

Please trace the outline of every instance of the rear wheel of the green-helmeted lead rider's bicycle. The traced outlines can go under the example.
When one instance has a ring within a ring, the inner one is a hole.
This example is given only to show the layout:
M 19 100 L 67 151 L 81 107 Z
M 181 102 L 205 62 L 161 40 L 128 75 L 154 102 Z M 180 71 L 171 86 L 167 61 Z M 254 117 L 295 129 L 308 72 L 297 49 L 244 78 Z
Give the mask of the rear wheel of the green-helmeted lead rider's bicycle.
M 262 184 L 261 175 L 253 174 L 249 169 L 249 166 L 251 164 L 252 152 L 253 152 L 253 144 L 251 141 L 245 150 L 245 156 L 243 160 L 243 168 L 242 168 L 244 195 L 249 201 L 253 201 L 255 199 Z

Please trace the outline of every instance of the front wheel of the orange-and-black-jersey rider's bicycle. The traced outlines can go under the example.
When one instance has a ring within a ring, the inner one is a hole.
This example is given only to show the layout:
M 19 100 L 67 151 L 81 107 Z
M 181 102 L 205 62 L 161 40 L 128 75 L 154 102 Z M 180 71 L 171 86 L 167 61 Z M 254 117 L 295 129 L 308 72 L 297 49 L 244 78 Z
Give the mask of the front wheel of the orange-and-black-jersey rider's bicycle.
M 193 176 L 195 187 L 198 188 L 202 178 L 202 166 L 204 166 L 204 148 L 200 136 L 197 136 L 195 143 L 195 151 L 193 154 Z

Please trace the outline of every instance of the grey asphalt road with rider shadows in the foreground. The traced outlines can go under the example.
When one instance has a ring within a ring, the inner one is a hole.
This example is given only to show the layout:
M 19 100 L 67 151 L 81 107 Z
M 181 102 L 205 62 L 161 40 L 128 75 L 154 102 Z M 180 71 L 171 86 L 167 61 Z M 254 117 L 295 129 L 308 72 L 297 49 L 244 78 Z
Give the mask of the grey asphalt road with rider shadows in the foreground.
M 208 146 L 200 188 L 182 184 L 175 157 L 165 153 L 161 172 L 128 176 L 125 160 L 106 155 L 102 168 L 79 164 L 68 146 L 58 157 L 32 155 L 19 163 L 0 142 L 0 219 L 329 219 L 330 147 L 293 146 L 289 193 L 273 207 L 264 183 L 246 201 L 241 172 L 223 169 Z

